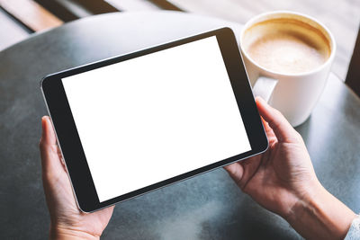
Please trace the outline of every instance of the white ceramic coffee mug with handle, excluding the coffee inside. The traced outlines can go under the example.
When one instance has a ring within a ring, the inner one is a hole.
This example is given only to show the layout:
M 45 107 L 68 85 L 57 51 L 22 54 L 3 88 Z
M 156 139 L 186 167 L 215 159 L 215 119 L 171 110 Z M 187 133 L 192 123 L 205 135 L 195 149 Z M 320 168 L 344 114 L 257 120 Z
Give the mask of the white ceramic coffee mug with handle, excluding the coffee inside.
M 250 58 L 247 49 L 244 48 L 244 36 L 246 31 L 255 24 L 274 19 L 301 21 L 320 31 L 329 42 L 329 58 L 320 67 L 296 74 L 284 74 L 261 67 L 254 59 Z M 240 33 L 239 41 L 254 95 L 263 97 L 271 106 L 281 111 L 293 127 L 299 126 L 307 120 L 327 83 L 336 52 L 336 43 L 328 28 L 302 13 L 276 11 L 260 14 L 249 20 Z

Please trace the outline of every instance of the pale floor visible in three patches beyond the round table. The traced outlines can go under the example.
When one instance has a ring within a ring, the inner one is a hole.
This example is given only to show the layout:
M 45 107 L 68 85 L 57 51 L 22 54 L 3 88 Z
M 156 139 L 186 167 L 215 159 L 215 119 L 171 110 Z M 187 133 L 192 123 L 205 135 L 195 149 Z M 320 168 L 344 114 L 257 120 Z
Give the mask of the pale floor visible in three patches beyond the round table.
M 94 0 L 93 0 L 94 1 Z M 186 12 L 211 15 L 234 22 L 247 22 L 251 17 L 274 10 L 291 10 L 309 14 L 323 22 L 333 32 L 338 52 L 332 71 L 340 78 L 347 76 L 347 67 L 355 46 L 360 22 L 360 0 L 167 0 Z M 5 1 L 6 2 L 6 1 Z M 107 0 L 122 11 L 158 10 L 148 0 Z M 0 50 L 25 39 L 24 30 L 0 8 Z

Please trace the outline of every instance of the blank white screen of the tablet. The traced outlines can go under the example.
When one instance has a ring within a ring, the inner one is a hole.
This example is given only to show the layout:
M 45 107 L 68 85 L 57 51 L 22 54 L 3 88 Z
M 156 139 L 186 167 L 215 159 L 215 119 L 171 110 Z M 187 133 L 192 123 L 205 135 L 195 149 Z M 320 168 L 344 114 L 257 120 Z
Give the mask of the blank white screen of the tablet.
M 62 83 L 100 201 L 251 150 L 216 37 Z

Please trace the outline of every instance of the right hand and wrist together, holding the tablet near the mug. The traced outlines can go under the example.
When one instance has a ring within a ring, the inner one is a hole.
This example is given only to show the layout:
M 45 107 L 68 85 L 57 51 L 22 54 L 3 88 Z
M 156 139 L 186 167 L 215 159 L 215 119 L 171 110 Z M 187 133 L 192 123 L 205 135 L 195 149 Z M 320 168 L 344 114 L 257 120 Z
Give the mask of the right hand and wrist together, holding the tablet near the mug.
M 301 135 L 280 111 L 256 99 L 269 147 L 224 168 L 261 206 L 286 219 L 307 239 L 343 239 L 356 215 L 316 177 Z

